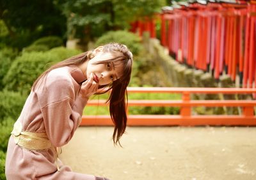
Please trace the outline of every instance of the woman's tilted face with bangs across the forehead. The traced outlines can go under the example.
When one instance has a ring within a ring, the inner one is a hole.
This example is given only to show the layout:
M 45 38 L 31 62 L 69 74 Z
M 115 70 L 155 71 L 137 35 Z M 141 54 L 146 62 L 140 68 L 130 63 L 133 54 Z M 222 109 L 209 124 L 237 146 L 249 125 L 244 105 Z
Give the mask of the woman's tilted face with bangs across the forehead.
M 95 57 L 90 59 L 87 63 L 86 76 L 90 77 L 93 73 L 93 80 L 99 85 L 107 85 L 116 79 L 119 79 L 122 75 L 122 64 L 117 62 L 100 63 L 100 61 L 113 59 L 115 56 L 110 52 L 97 52 Z M 100 64 L 95 64 L 100 63 Z

